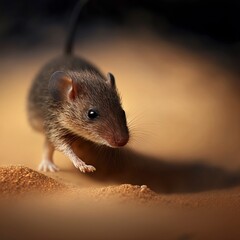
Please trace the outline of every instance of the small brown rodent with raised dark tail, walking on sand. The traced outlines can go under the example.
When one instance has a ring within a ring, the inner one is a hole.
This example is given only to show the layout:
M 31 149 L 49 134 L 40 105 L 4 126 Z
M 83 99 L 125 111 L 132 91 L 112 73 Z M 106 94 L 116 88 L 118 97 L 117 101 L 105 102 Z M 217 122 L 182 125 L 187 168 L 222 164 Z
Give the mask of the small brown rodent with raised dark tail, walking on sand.
M 104 75 L 91 63 L 72 55 L 73 38 L 83 2 L 74 9 L 64 55 L 47 63 L 32 83 L 28 96 L 31 126 L 45 134 L 39 170 L 57 171 L 53 152 L 63 152 L 81 172 L 95 168 L 83 162 L 72 144 L 84 138 L 109 147 L 129 140 L 125 112 L 111 73 Z

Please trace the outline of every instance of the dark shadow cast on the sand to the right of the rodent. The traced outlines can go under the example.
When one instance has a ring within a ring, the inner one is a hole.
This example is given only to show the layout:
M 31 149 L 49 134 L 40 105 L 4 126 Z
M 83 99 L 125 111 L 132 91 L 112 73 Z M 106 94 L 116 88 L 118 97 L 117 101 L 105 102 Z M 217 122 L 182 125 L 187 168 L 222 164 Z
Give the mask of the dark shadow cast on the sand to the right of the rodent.
M 98 149 L 82 141 L 75 144 L 77 155 L 96 167 L 97 171 L 88 176 L 97 181 L 144 184 L 159 193 L 190 193 L 240 185 L 240 172 L 230 172 L 200 161 L 174 163 L 128 148 Z

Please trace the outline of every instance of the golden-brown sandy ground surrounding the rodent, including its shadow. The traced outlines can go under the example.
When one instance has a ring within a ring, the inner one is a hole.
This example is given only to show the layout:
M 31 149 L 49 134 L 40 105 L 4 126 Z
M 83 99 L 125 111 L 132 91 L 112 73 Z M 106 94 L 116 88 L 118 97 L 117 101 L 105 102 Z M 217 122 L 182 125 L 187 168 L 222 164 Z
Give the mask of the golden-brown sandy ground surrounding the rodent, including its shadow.
M 2 167 L 0 190 L 34 196 L 3 198 L 1 239 L 239 239 L 239 76 L 221 55 L 149 32 L 92 39 L 79 40 L 76 52 L 115 74 L 132 139 L 122 150 L 81 144 L 78 154 L 96 166 L 93 174 L 60 153 L 60 172 L 31 170 L 43 137 L 28 125 L 27 91 L 62 40 L 3 51 L 0 165 L 24 167 Z M 64 190 L 42 196 L 37 182 Z

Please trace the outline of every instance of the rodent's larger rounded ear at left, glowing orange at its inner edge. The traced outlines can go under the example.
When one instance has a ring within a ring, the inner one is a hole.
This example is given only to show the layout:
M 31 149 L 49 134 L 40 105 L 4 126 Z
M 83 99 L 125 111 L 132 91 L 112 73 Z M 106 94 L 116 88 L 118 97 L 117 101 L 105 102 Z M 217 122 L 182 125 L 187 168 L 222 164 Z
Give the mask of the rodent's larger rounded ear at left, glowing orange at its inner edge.
M 77 96 L 76 83 L 65 72 L 54 72 L 49 80 L 48 90 L 57 100 L 74 100 Z

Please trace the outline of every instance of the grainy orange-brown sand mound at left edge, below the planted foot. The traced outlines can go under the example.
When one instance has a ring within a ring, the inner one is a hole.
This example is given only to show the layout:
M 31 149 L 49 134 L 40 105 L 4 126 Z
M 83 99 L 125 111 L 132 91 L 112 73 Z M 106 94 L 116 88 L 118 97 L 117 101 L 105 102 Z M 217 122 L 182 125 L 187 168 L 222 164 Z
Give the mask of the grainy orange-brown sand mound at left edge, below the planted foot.
M 51 192 L 63 187 L 63 184 L 27 167 L 0 167 L 1 195 L 14 195 L 32 191 Z

